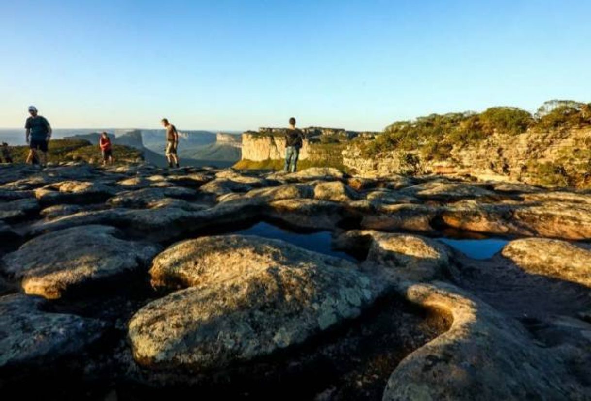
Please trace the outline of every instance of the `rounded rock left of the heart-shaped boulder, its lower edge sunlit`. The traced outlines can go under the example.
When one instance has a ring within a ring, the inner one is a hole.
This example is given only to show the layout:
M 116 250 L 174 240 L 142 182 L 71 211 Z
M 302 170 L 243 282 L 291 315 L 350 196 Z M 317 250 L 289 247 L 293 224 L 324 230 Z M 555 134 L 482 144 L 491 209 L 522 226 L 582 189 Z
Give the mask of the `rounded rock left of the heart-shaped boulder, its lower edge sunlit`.
M 31 239 L 2 258 L 2 270 L 27 294 L 60 298 L 80 286 L 100 282 L 149 264 L 156 245 L 119 239 L 113 227 L 86 225 Z

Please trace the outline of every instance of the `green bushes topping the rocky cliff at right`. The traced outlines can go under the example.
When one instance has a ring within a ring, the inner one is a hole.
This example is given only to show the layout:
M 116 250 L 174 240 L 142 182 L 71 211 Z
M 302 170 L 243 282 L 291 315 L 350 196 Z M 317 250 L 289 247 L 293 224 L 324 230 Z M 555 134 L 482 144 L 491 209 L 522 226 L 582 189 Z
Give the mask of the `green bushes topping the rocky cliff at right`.
M 532 115 L 517 107 L 491 107 L 482 113 L 431 114 L 413 121 L 395 121 L 371 142 L 359 141 L 363 156 L 372 157 L 391 150 L 415 150 L 426 160 L 449 156 L 452 147 L 500 134 L 520 134 L 591 126 L 591 103 L 550 100 Z

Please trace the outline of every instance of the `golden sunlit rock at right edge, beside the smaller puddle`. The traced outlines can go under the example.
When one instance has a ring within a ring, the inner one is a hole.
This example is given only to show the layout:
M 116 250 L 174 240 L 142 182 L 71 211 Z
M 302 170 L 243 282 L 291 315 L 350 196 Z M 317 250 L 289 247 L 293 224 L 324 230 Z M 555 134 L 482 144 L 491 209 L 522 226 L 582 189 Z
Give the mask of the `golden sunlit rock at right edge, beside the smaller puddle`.
M 547 238 L 524 238 L 505 245 L 502 255 L 531 274 L 591 287 L 591 251 Z

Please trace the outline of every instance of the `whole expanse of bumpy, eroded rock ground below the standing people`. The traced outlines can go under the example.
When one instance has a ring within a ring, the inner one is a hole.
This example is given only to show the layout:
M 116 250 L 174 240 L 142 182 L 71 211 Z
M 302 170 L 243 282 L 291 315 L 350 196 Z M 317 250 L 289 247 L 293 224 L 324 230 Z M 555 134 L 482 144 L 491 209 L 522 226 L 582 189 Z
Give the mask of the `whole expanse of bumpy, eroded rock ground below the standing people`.
M 589 192 L 327 167 L 0 170 L 3 385 L 591 399 Z M 500 245 L 450 247 L 468 238 Z

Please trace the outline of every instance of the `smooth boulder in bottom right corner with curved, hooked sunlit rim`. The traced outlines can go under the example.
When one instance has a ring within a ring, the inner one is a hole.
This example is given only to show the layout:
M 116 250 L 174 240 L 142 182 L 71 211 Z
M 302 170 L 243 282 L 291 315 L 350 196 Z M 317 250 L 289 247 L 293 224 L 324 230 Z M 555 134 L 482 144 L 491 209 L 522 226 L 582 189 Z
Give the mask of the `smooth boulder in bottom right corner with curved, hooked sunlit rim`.
M 539 346 L 516 321 L 453 285 L 406 283 L 397 290 L 453 322 L 402 360 L 388 380 L 384 401 L 591 397 L 589 380 L 574 374 L 584 351 Z

